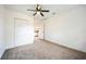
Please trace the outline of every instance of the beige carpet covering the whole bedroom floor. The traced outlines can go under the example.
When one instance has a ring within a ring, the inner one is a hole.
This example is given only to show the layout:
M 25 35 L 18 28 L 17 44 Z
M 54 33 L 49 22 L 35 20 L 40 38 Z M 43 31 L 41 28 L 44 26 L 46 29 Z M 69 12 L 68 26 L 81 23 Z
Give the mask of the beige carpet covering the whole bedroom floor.
M 86 53 L 61 47 L 44 40 L 7 50 L 2 60 L 78 60 Z

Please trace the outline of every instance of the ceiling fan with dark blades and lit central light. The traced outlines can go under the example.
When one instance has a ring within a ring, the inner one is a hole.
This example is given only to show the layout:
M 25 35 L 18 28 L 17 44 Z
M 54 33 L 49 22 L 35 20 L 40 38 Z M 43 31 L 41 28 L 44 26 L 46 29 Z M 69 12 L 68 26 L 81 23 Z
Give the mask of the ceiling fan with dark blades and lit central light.
M 34 11 L 34 12 L 35 12 L 35 13 L 33 14 L 34 16 L 35 16 L 36 14 L 38 14 L 38 13 L 39 13 L 41 16 L 45 16 L 45 15 L 42 14 L 42 12 L 49 12 L 49 10 L 42 10 L 40 4 L 37 4 L 35 10 L 27 9 L 27 11 Z

